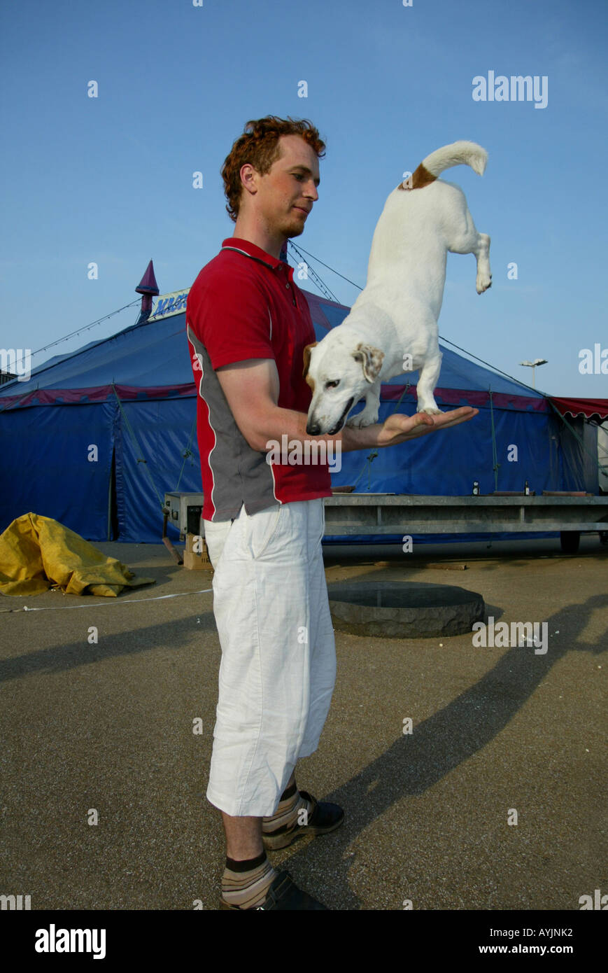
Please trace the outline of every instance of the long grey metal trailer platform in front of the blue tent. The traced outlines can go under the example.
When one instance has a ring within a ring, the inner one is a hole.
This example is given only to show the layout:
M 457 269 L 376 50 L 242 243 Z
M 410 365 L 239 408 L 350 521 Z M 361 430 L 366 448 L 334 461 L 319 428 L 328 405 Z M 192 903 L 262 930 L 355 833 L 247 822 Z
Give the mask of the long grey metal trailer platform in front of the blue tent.
M 424 496 L 335 493 L 324 498 L 325 536 L 559 531 L 575 554 L 581 531 L 608 538 L 608 496 Z

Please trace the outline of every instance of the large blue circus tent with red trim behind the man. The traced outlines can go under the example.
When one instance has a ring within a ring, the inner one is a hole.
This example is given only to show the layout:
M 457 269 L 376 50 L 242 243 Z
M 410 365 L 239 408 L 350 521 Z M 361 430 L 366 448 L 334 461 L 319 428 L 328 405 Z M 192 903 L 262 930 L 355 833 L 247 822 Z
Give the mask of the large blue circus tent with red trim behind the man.
M 304 294 L 320 341 L 349 308 Z M 91 541 L 155 543 L 165 491 L 201 490 L 187 295 L 161 296 L 147 319 L 0 386 L 0 531 L 32 511 Z M 464 495 L 475 480 L 482 493 L 522 490 L 527 480 L 537 495 L 598 492 L 582 417 L 566 424 L 549 397 L 443 343 L 442 350 L 438 405 L 472 405 L 480 414 L 402 446 L 344 453 L 333 486 Z M 416 411 L 416 380 L 404 374 L 383 385 L 380 420 L 396 408 Z

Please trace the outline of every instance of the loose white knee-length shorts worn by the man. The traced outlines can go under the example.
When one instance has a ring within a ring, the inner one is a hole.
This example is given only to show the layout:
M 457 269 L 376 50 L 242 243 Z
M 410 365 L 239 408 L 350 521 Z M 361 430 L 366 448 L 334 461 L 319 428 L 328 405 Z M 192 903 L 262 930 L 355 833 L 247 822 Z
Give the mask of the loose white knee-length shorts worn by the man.
M 316 750 L 336 682 L 323 499 L 203 524 L 222 646 L 207 799 L 265 817 Z

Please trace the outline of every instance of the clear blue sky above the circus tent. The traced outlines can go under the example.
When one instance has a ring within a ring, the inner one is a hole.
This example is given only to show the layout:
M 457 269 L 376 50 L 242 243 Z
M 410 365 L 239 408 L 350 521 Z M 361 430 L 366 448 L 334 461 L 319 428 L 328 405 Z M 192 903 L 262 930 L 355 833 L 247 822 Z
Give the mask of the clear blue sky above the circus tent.
M 233 232 L 220 177 L 232 142 L 273 114 L 310 119 L 327 143 L 294 242 L 361 286 L 403 172 L 456 139 L 483 145 L 483 178 L 465 166 L 445 178 L 492 238 L 493 284 L 478 296 L 475 258 L 450 255 L 440 335 L 527 383 L 519 362 L 547 358 L 542 391 L 608 398 L 608 375 L 579 371 L 582 348 L 608 348 L 607 35 L 605 0 L 4 5 L 0 346 L 36 350 L 128 305 L 151 258 L 161 293 L 190 286 Z M 547 106 L 475 101 L 488 71 L 546 76 Z M 355 287 L 310 266 L 353 303 Z

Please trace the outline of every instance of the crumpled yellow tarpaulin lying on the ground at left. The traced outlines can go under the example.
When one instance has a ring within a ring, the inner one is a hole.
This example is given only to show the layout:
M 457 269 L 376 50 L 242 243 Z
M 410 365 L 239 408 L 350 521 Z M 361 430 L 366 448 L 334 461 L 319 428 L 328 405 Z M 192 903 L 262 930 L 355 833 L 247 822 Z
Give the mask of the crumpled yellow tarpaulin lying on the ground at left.
M 154 578 L 135 578 L 120 560 L 107 558 L 51 517 L 23 514 L 0 534 L 2 595 L 60 588 L 66 595 L 116 597 L 124 588 L 154 583 Z

